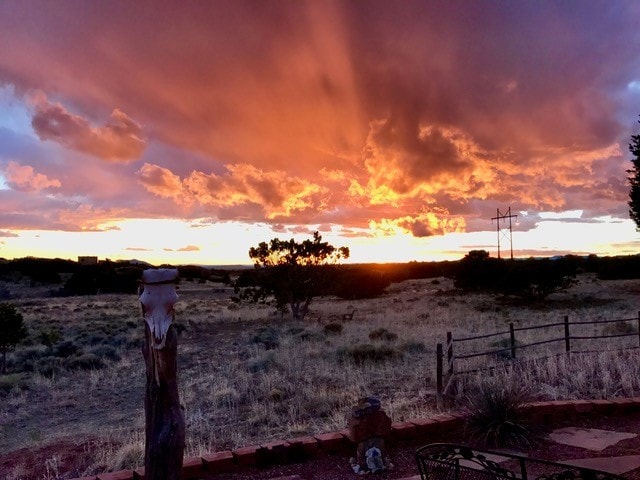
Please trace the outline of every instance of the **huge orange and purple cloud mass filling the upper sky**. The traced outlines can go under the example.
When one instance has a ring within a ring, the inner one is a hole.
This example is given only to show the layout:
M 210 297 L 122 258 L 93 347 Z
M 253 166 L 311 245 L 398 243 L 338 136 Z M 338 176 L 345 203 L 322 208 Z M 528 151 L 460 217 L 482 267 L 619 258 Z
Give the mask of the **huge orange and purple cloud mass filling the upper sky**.
M 635 7 L 205 2 L 156 17 L 125 2 L 66 22 L 54 4 L 11 5 L 0 82 L 61 102 L 32 107 L 66 195 L 52 209 L 82 197 L 114 215 L 416 236 L 486 228 L 496 207 L 627 215 Z M 0 156 L 17 141 L 3 133 Z M 58 144 L 112 162 L 58 160 Z

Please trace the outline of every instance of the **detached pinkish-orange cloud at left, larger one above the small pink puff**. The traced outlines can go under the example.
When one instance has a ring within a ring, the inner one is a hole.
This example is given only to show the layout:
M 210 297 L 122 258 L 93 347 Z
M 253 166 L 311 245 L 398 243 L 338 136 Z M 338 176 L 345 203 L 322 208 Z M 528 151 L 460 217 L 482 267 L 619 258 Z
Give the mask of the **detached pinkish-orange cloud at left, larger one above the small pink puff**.
M 33 97 L 31 125 L 41 140 L 53 140 L 72 150 L 116 162 L 140 158 L 146 141 L 142 128 L 117 108 L 102 127 L 92 127 L 84 118 L 50 103 L 44 95 Z

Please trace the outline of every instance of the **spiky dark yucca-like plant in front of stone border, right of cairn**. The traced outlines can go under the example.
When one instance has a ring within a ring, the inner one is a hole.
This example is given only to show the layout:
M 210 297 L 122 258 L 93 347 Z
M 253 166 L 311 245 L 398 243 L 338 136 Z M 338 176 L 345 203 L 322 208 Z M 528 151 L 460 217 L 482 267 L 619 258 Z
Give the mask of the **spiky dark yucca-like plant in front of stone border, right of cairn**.
M 492 448 L 531 446 L 533 436 L 522 413 L 526 401 L 526 392 L 515 382 L 478 383 L 465 399 L 465 431 L 471 441 Z

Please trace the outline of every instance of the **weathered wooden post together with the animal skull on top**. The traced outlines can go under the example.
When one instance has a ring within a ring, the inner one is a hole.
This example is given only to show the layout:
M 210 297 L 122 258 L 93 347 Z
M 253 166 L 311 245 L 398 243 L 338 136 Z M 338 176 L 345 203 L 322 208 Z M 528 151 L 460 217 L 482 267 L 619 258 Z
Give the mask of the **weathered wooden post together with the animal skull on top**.
M 172 326 L 178 271 L 145 270 L 140 305 L 145 321 L 142 354 L 147 367 L 144 399 L 146 480 L 181 480 L 184 413 L 178 397 L 178 338 Z

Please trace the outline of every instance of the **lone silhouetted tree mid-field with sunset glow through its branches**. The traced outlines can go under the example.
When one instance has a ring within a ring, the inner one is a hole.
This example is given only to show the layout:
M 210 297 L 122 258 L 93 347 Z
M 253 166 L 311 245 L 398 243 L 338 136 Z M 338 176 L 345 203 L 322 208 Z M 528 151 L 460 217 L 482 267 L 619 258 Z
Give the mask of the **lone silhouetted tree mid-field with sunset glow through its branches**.
M 237 300 L 274 303 L 278 311 L 291 309 L 294 319 L 302 320 L 313 297 L 327 287 L 329 267 L 349 258 L 347 247 L 336 248 L 323 242 L 318 232 L 313 240 L 301 243 L 274 238 L 249 249 L 254 271 L 241 276 L 235 285 Z

